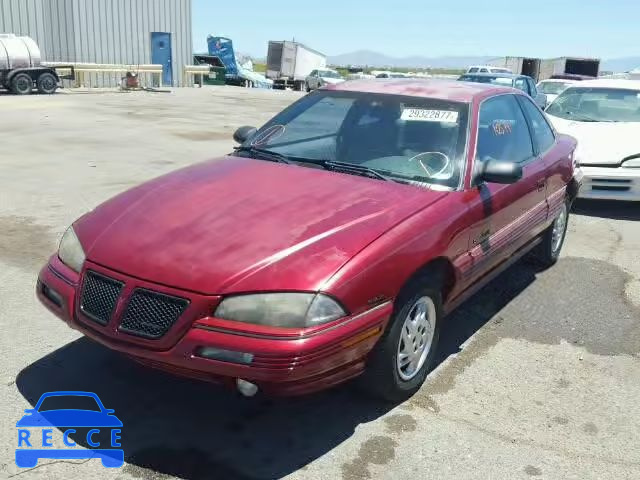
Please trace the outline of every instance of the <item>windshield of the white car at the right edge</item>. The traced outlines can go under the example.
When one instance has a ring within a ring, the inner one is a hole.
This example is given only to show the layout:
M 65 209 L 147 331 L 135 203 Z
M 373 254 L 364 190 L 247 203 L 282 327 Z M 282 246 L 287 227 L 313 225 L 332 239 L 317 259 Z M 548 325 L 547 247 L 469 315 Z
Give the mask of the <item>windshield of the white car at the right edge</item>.
M 549 105 L 547 113 L 577 122 L 640 122 L 640 90 L 572 87 Z

